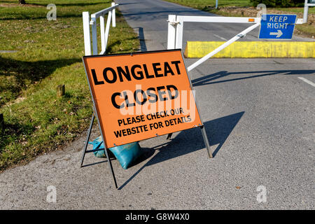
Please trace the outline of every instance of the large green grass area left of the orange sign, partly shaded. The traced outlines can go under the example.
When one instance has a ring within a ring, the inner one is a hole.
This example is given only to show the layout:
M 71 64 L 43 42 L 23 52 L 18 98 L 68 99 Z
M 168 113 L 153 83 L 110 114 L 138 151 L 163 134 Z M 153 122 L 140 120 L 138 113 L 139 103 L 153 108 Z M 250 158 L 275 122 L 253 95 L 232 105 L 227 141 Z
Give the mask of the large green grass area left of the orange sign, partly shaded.
M 85 132 L 92 102 L 81 60 L 82 12 L 94 13 L 111 4 L 55 0 L 57 20 L 48 21 L 50 0 L 29 0 L 29 6 L 16 2 L 0 2 L 0 50 L 18 50 L 0 53 L 0 113 L 6 124 L 0 134 L 0 170 L 60 148 Z M 119 13 L 116 24 L 107 52 L 137 51 L 137 34 Z M 59 84 L 66 87 L 64 97 L 56 97 Z

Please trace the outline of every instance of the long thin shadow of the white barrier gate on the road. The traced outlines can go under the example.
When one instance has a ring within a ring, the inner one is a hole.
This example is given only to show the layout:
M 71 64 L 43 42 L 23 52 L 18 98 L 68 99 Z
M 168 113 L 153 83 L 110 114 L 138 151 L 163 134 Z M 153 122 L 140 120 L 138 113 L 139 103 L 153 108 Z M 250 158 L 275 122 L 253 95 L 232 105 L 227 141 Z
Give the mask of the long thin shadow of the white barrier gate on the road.
M 232 76 L 232 75 L 239 75 L 239 74 L 252 74 L 252 73 L 261 73 L 259 75 L 254 76 L 247 76 L 241 78 L 231 78 L 227 80 L 220 80 L 220 81 L 213 81 L 218 78 L 223 78 L 225 76 Z M 274 75 L 307 75 L 307 74 L 314 74 L 315 70 L 278 70 L 278 71 L 240 71 L 240 72 L 228 72 L 228 71 L 219 71 L 207 76 L 202 76 L 200 78 L 195 78 L 191 80 L 193 86 L 198 85 L 208 85 L 208 84 L 215 84 L 215 83 L 225 83 L 235 80 L 242 80 L 247 78 L 258 78 L 262 76 L 274 76 Z

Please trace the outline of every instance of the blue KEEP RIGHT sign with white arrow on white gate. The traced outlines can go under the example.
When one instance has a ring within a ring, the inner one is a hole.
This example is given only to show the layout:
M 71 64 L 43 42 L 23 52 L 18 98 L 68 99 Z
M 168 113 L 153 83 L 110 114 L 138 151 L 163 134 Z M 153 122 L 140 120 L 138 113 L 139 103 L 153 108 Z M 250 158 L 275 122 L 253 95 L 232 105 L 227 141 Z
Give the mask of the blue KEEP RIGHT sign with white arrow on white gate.
M 296 15 L 262 15 L 259 37 L 261 39 L 291 39 Z

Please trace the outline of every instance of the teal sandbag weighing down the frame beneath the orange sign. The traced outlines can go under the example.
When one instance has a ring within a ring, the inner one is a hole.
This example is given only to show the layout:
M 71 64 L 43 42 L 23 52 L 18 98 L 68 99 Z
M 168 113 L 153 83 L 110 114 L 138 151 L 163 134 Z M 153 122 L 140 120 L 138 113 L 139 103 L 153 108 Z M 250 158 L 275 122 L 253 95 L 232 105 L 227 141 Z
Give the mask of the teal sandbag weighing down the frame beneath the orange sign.
M 104 144 L 102 137 L 98 137 L 89 143 L 93 145 L 93 152 L 96 157 L 106 157 L 104 155 Z M 115 155 L 123 169 L 130 167 L 130 165 L 132 165 L 132 163 L 141 155 L 141 148 L 138 142 L 109 148 L 109 151 Z

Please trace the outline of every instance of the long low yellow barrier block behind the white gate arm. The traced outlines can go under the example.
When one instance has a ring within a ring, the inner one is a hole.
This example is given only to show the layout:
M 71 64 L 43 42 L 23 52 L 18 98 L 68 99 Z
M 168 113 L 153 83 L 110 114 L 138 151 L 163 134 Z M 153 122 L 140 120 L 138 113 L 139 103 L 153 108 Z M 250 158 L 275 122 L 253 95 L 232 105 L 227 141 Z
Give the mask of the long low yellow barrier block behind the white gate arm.
M 224 41 L 188 41 L 185 57 L 204 57 Z M 315 42 L 238 41 L 213 57 L 315 57 Z

